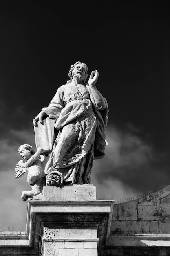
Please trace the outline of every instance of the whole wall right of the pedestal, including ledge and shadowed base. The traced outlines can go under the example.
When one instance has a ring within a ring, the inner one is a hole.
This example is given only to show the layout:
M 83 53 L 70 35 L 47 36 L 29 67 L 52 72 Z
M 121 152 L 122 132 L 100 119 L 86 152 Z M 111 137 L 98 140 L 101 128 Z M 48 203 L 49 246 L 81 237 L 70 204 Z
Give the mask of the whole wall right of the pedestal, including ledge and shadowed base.
M 115 204 L 103 256 L 170 255 L 170 186 Z

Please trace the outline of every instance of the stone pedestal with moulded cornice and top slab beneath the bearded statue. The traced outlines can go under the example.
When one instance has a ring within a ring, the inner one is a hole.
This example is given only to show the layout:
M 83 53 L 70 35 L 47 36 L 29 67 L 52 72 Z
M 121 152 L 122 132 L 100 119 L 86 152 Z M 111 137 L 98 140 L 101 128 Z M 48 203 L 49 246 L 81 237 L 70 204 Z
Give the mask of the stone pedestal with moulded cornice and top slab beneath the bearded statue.
M 29 207 L 42 256 L 97 256 L 109 236 L 113 200 L 96 200 L 93 185 L 44 187 Z

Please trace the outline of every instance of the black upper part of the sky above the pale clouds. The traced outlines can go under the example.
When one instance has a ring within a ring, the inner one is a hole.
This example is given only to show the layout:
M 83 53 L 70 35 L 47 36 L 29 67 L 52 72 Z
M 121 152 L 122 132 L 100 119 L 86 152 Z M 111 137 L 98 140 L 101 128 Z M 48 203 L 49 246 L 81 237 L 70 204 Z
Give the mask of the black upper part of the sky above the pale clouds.
M 110 124 L 130 123 L 169 148 L 168 1 L 7 1 L 0 8 L 4 122 L 23 128 L 48 105 L 75 61 L 99 70 Z M 13 110 L 22 106 L 27 120 Z M 13 115 L 9 119 L 9 113 Z M 2 131 L 4 130 L 4 124 Z

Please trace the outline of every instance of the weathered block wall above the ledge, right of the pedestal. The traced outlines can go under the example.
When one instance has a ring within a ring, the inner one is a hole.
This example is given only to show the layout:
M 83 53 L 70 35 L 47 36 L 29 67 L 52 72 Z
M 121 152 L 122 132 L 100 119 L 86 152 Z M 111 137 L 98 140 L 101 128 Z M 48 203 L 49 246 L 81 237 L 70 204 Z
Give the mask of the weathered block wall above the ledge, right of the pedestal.
M 170 234 L 170 187 L 115 204 L 111 234 Z

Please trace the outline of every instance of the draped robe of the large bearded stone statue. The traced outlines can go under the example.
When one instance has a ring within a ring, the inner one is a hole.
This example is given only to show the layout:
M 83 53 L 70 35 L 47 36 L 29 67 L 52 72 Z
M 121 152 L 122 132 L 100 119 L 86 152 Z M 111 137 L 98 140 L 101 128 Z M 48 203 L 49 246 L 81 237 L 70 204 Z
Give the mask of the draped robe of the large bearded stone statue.
M 88 184 L 93 158 L 105 155 L 108 107 L 99 111 L 88 85 L 62 85 L 42 111 L 55 118 L 58 130 L 45 172 L 57 171 L 62 182 Z

